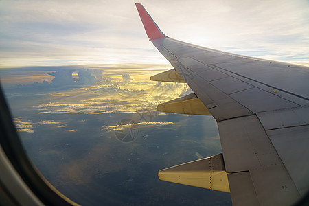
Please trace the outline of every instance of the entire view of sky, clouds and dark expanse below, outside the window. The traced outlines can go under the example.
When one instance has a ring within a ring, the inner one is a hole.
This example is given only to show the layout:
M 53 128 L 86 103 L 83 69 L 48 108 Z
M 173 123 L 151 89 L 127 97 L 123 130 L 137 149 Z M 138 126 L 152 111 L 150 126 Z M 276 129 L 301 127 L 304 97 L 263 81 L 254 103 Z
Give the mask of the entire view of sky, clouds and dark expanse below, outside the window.
M 135 3 L 171 38 L 309 66 L 308 0 L 0 0 L 0 80 L 27 155 L 82 205 L 231 205 L 157 178 L 222 148 L 211 115 L 157 111 L 193 91 L 150 81 L 172 66 Z

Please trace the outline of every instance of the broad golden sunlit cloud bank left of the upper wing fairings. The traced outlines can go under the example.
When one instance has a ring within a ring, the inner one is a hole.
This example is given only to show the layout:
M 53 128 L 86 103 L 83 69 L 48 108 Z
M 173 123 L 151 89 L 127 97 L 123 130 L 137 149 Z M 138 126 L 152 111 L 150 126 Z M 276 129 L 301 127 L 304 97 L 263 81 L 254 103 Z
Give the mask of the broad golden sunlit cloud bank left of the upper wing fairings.
M 149 82 L 111 82 L 111 84 L 95 84 L 57 92 L 54 100 L 47 104 L 34 106 L 38 113 L 137 113 L 137 111 L 156 110 L 158 100 L 164 101 L 165 95 L 174 97 L 174 90 L 152 92 L 155 84 Z M 157 88 L 157 87 L 155 87 Z M 150 90 L 150 93 L 148 91 Z M 165 91 L 165 92 L 164 92 Z M 180 93 L 182 87 L 177 92 Z M 164 92 L 164 96 L 159 92 Z M 73 101 L 72 101 L 72 97 Z

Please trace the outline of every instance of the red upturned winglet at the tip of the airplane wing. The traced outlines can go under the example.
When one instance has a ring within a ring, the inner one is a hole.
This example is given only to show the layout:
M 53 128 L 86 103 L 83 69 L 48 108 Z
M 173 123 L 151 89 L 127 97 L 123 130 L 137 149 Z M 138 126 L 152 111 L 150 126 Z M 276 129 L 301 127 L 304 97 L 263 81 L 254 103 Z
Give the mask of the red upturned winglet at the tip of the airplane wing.
M 141 22 L 144 25 L 146 33 L 150 40 L 157 38 L 168 38 L 163 32 L 159 29 L 155 21 L 152 20 L 151 16 L 145 10 L 144 6 L 140 3 L 135 3 L 139 16 L 141 16 Z

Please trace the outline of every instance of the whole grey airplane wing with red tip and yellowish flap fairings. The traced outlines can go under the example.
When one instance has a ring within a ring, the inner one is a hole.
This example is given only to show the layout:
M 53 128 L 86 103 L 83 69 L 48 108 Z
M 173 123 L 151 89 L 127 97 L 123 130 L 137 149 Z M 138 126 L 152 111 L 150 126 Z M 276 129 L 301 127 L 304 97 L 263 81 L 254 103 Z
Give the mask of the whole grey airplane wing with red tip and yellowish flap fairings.
M 159 171 L 165 181 L 231 192 L 233 205 L 292 205 L 309 188 L 309 67 L 221 52 L 165 36 L 136 3 L 174 69 L 151 80 L 194 93 L 159 111 L 212 115 L 222 154 Z

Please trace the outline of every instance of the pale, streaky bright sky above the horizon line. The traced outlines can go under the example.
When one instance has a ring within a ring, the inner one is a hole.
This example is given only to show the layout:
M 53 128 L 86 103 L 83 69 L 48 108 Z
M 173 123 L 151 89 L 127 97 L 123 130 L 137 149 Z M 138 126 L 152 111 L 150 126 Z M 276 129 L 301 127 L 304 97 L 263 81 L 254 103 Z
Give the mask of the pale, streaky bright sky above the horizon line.
M 169 67 L 134 3 L 172 38 L 226 52 L 309 65 L 309 1 L 0 1 L 0 68 Z

